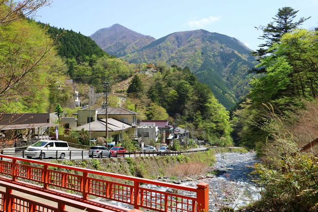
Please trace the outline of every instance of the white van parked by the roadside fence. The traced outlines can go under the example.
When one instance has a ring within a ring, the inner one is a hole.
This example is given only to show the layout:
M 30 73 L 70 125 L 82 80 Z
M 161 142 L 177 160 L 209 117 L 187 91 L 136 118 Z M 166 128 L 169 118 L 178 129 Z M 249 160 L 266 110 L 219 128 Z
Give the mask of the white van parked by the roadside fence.
M 63 159 L 68 150 L 68 142 L 66 141 L 41 140 L 28 146 L 24 151 L 24 155 L 27 158 L 37 157 L 44 159 L 45 157 L 59 157 Z

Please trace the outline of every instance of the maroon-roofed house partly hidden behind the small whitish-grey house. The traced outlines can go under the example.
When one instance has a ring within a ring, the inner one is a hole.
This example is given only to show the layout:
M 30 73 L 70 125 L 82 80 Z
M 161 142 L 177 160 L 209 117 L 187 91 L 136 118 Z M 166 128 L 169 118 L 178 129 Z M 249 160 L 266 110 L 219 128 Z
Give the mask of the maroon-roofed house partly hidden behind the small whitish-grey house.
M 145 123 L 154 123 L 158 127 L 160 134 L 160 143 L 165 143 L 167 145 L 173 143 L 174 127 L 169 125 L 168 120 L 140 120 L 139 125 Z

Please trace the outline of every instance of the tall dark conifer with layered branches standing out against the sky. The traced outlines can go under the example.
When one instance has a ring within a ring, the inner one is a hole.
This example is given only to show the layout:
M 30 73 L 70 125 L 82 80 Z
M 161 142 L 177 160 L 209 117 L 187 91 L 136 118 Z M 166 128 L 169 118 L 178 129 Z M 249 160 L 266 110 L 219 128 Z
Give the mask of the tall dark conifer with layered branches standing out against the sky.
M 278 9 L 275 17 L 273 17 L 273 22 L 267 24 L 267 26 L 259 26 L 255 27 L 257 29 L 261 29 L 263 31 L 263 35 L 260 36 L 259 39 L 265 40 L 264 44 L 259 45 L 259 49 L 251 52 L 254 56 L 258 57 L 257 61 L 260 61 L 261 58 L 266 56 L 268 53 L 273 52 L 273 48 L 269 50 L 269 47 L 273 45 L 273 43 L 279 43 L 280 38 L 288 33 L 296 29 L 299 25 L 305 22 L 308 18 L 300 18 L 298 21 L 294 22 L 296 17 L 296 13 L 299 10 L 295 10 L 292 7 L 282 7 Z M 256 73 L 265 72 L 265 68 L 252 69 Z

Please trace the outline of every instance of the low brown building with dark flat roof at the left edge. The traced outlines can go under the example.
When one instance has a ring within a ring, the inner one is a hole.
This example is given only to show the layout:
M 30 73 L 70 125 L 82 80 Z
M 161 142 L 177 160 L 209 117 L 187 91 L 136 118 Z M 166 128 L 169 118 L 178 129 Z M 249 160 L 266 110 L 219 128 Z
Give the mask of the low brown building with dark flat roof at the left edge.
M 0 114 L 0 137 L 13 141 L 14 146 L 28 145 L 42 136 L 49 138 L 50 127 L 58 126 L 49 122 L 48 113 Z

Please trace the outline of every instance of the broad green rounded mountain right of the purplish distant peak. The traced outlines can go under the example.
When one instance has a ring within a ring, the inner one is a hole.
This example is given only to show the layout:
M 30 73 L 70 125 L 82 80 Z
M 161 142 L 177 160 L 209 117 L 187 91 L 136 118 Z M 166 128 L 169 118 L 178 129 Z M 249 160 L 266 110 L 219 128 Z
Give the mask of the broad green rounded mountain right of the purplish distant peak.
M 112 31 L 116 42 L 120 37 L 124 37 L 123 42 L 126 42 L 126 37 L 130 36 L 125 34 L 126 31 L 118 31 L 120 34 Z M 111 42 L 107 40 L 110 37 L 99 37 L 98 41 L 91 37 L 102 48 L 100 42 Z M 110 48 L 103 49 L 116 54 Z M 123 56 L 131 63 L 156 64 L 163 61 L 168 65 L 189 67 L 227 109 L 249 92 L 248 84 L 253 74 L 248 71 L 254 67 L 255 58 L 250 55 L 251 50 L 235 38 L 200 29 L 175 32 L 143 47 L 132 49 L 122 46 L 121 49 L 124 51 L 117 56 Z

